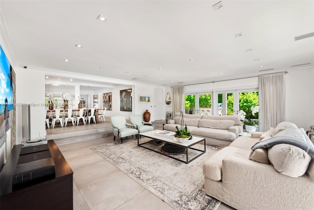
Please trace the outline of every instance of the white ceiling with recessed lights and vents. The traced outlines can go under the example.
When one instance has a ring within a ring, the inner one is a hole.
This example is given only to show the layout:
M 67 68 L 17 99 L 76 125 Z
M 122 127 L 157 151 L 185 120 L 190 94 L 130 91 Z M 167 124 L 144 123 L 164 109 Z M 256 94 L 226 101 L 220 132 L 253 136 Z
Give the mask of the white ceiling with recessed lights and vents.
M 16 65 L 167 86 L 313 66 L 314 37 L 294 41 L 314 32 L 313 0 L 224 0 L 214 10 L 218 1 L 1 0 L 0 9 Z

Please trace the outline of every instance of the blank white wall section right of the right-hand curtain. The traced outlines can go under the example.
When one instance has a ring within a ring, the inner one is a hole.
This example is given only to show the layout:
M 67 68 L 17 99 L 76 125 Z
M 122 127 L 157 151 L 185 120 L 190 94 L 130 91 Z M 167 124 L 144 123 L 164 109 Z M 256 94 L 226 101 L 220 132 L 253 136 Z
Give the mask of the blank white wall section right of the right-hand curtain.
M 314 125 L 314 67 L 286 75 L 286 120 L 306 130 Z

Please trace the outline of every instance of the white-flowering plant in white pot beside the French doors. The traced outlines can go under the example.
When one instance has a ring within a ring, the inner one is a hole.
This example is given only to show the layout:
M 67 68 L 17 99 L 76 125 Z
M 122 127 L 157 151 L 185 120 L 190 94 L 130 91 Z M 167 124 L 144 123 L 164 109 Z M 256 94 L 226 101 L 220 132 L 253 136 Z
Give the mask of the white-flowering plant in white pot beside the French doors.
M 241 122 L 245 125 L 245 130 L 247 132 L 254 132 L 256 131 L 256 128 L 259 127 L 259 120 L 253 119 L 254 115 L 259 112 L 259 109 L 259 106 L 252 106 L 248 108 L 247 113 L 243 110 L 239 111 L 238 115 L 240 116 Z

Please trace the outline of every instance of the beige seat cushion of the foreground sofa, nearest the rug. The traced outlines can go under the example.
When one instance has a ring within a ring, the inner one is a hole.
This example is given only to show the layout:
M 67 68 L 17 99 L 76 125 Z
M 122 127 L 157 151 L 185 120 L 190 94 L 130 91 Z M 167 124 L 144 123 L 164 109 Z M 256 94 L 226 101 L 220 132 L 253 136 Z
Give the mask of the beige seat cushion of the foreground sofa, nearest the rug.
M 244 150 L 236 147 L 225 147 L 211 155 L 203 164 L 203 174 L 206 178 L 219 181 L 222 179 L 222 160 L 227 155 L 248 159 L 249 154 L 250 150 Z

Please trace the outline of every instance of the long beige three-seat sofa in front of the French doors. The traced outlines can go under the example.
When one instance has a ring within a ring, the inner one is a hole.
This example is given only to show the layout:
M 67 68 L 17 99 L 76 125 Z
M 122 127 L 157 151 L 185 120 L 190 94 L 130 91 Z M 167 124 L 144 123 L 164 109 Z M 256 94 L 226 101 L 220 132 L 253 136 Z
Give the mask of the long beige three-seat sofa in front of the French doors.
M 176 126 L 181 128 L 180 113 L 175 113 L 174 120 L 168 120 L 163 126 L 164 130 L 177 131 Z M 243 131 L 243 124 L 238 116 L 210 116 L 183 114 L 183 123 L 193 136 L 206 139 L 206 144 L 224 148 L 230 145 Z

